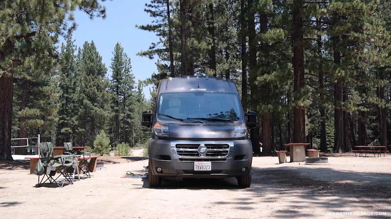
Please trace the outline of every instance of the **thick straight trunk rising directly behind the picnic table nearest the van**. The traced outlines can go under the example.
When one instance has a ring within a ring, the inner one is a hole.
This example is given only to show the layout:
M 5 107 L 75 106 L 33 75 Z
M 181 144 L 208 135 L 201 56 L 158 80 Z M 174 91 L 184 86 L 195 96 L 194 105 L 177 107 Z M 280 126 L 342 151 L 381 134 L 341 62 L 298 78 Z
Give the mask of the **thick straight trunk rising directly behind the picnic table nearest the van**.
M 292 11 L 294 31 L 292 34 L 293 44 L 293 74 L 294 92 L 304 87 L 304 45 L 303 45 L 303 18 L 300 17 L 303 11 L 303 0 L 295 0 Z M 301 97 L 297 97 L 301 98 Z M 294 143 L 305 142 L 305 110 L 295 106 L 293 119 L 293 141 Z

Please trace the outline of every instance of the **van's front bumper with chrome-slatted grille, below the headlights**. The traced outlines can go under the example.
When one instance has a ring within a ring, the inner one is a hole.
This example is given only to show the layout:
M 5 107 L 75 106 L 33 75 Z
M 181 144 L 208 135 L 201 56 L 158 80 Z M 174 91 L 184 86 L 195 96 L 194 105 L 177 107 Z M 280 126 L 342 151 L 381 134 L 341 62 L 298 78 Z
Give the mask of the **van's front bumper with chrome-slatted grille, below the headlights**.
M 207 148 L 205 155 L 201 147 Z M 247 175 L 251 170 L 250 140 L 233 141 L 170 141 L 151 139 L 150 167 L 161 177 L 226 178 Z M 211 164 L 210 171 L 196 171 L 195 162 Z

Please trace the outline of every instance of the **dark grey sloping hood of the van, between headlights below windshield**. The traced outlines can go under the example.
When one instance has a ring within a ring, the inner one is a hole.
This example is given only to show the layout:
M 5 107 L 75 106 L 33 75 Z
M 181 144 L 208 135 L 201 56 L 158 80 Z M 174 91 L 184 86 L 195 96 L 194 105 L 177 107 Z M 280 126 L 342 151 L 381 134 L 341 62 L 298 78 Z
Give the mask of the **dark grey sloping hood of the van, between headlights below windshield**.
M 172 140 L 235 138 L 235 127 L 232 123 L 171 123 L 168 125 Z

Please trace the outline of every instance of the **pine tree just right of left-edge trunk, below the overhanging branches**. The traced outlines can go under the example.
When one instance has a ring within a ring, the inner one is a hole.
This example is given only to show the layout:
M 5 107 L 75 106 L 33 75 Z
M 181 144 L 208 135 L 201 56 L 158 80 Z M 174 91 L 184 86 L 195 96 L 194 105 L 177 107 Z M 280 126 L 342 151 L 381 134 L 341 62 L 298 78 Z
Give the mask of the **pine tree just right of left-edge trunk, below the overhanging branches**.
M 54 71 L 53 71 L 54 72 Z M 41 134 L 50 141 L 55 133 L 59 88 L 58 80 L 52 73 L 43 73 L 20 68 L 15 74 L 14 81 L 14 126 L 19 130 L 18 138 L 27 138 Z M 20 146 L 26 141 L 20 140 Z M 24 147 L 17 148 L 18 154 L 25 154 Z

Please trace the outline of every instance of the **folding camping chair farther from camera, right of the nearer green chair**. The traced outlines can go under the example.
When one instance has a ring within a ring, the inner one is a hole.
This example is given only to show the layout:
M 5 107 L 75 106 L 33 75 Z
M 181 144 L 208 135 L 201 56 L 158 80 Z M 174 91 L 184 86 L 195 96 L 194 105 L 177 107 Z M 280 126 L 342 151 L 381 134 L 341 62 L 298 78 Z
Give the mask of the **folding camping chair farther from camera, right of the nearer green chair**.
M 88 170 L 88 164 L 91 161 L 91 152 L 73 150 L 72 142 L 64 142 L 64 154 L 80 155 L 77 156 L 77 159 L 75 160 L 74 167 L 76 168 L 73 170 L 73 179 L 75 177 L 75 171 L 78 171 L 78 176 L 80 173 L 82 174 L 82 177 L 79 178 L 85 179 L 91 177 Z

